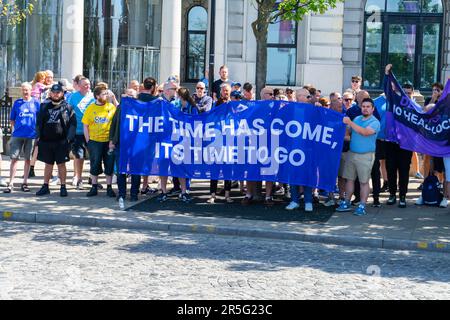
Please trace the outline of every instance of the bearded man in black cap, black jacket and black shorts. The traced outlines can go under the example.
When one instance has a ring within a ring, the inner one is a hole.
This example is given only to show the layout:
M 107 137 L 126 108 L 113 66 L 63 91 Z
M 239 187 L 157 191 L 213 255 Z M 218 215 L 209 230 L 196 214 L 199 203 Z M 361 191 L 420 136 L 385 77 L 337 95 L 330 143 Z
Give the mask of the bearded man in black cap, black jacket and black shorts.
M 75 139 L 77 120 L 73 109 L 64 99 L 61 85 L 51 87 L 49 99 L 49 102 L 41 105 L 36 123 L 38 160 L 45 163 L 44 185 L 36 196 L 50 194 L 49 181 L 56 163 L 61 180 L 60 196 L 67 197 L 66 162 L 69 161 L 70 144 Z

